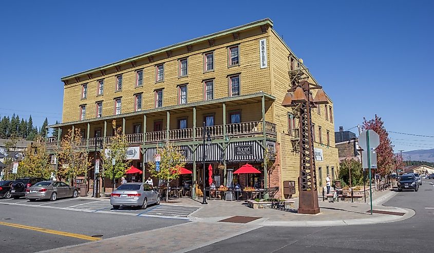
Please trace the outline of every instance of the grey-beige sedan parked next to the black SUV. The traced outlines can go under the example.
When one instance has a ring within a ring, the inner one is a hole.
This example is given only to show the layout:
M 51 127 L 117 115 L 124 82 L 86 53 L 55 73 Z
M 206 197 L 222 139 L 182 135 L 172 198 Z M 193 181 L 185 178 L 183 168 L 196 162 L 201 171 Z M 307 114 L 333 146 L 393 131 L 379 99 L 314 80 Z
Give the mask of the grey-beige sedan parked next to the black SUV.
M 77 198 L 79 191 L 74 186 L 69 186 L 60 181 L 41 181 L 26 189 L 26 199 L 49 199 L 55 201 L 59 198 Z

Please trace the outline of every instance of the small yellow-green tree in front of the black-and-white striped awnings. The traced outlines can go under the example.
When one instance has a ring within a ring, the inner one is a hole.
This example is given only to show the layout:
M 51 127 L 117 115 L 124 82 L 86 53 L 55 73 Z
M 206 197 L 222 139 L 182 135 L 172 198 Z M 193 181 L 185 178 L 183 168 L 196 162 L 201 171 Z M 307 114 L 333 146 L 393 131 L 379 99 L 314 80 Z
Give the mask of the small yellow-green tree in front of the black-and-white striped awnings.
M 153 177 L 162 179 L 166 183 L 166 202 L 168 201 L 169 183 L 179 178 L 179 168 L 185 165 L 185 157 L 179 146 L 166 142 L 163 147 L 157 146 L 157 154 L 161 156 L 160 169 L 157 170 L 155 162 L 149 162 L 149 172 Z

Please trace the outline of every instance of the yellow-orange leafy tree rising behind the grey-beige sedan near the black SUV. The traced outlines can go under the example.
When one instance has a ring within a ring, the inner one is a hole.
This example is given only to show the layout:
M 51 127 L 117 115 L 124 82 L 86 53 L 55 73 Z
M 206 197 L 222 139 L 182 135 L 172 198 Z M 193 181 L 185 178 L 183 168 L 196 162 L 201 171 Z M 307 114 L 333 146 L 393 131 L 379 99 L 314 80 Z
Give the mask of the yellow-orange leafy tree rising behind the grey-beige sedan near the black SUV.
M 60 148 L 56 150 L 56 157 L 59 161 L 58 176 L 73 179 L 74 185 L 77 182 L 77 176 L 85 174 L 91 166 L 86 148 L 81 146 L 80 128 L 76 128 L 74 132 L 69 129 L 62 138 Z

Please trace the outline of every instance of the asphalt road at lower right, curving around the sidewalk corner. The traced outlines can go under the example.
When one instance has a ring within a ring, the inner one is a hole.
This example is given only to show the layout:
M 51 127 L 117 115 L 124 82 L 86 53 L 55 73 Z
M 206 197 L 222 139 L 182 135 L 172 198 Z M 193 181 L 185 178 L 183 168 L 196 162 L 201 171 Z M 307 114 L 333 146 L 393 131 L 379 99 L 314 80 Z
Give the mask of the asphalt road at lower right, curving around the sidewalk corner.
M 335 227 L 262 227 L 190 252 L 433 252 L 434 185 L 399 192 L 384 205 L 410 208 L 401 222 Z M 369 206 L 367 205 L 367 210 Z

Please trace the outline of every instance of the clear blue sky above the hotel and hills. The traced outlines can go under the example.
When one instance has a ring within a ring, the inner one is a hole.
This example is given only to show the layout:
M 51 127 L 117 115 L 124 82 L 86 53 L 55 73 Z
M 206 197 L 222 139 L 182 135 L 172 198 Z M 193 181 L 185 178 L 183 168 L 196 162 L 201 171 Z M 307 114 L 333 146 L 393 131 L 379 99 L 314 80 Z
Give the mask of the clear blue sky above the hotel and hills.
M 3 3 L 0 115 L 52 124 L 61 76 L 270 17 L 331 96 L 336 129 L 376 113 L 389 131 L 434 136 L 433 1 L 279 2 Z M 434 138 L 390 137 L 395 150 L 434 148 Z

